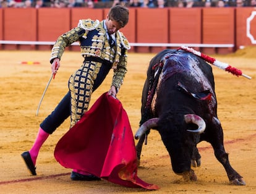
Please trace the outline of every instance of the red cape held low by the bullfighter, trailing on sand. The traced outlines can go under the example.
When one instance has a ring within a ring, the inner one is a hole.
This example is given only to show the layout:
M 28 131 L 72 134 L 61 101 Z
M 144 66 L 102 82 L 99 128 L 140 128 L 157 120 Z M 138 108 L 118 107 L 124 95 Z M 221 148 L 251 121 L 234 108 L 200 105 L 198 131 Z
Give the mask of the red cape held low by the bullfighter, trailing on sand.
M 57 143 L 56 160 L 126 187 L 158 189 L 137 177 L 134 135 L 118 99 L 104 93 Z

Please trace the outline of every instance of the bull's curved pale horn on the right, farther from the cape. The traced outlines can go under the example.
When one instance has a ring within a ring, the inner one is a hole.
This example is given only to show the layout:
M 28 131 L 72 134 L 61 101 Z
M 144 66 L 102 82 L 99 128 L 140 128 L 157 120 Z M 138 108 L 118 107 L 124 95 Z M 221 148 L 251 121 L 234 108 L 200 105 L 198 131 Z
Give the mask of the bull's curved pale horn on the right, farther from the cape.
M 194 133 L 203 133 L 206 127 L 205 121 L 199 117 L 196 114 L 186 114 L 184 115 L 184 120 L 187 124 L 196 124 L 198 125 L 198 129 L 196 130 L 187 130 L 189 132 L 194 132 Z

